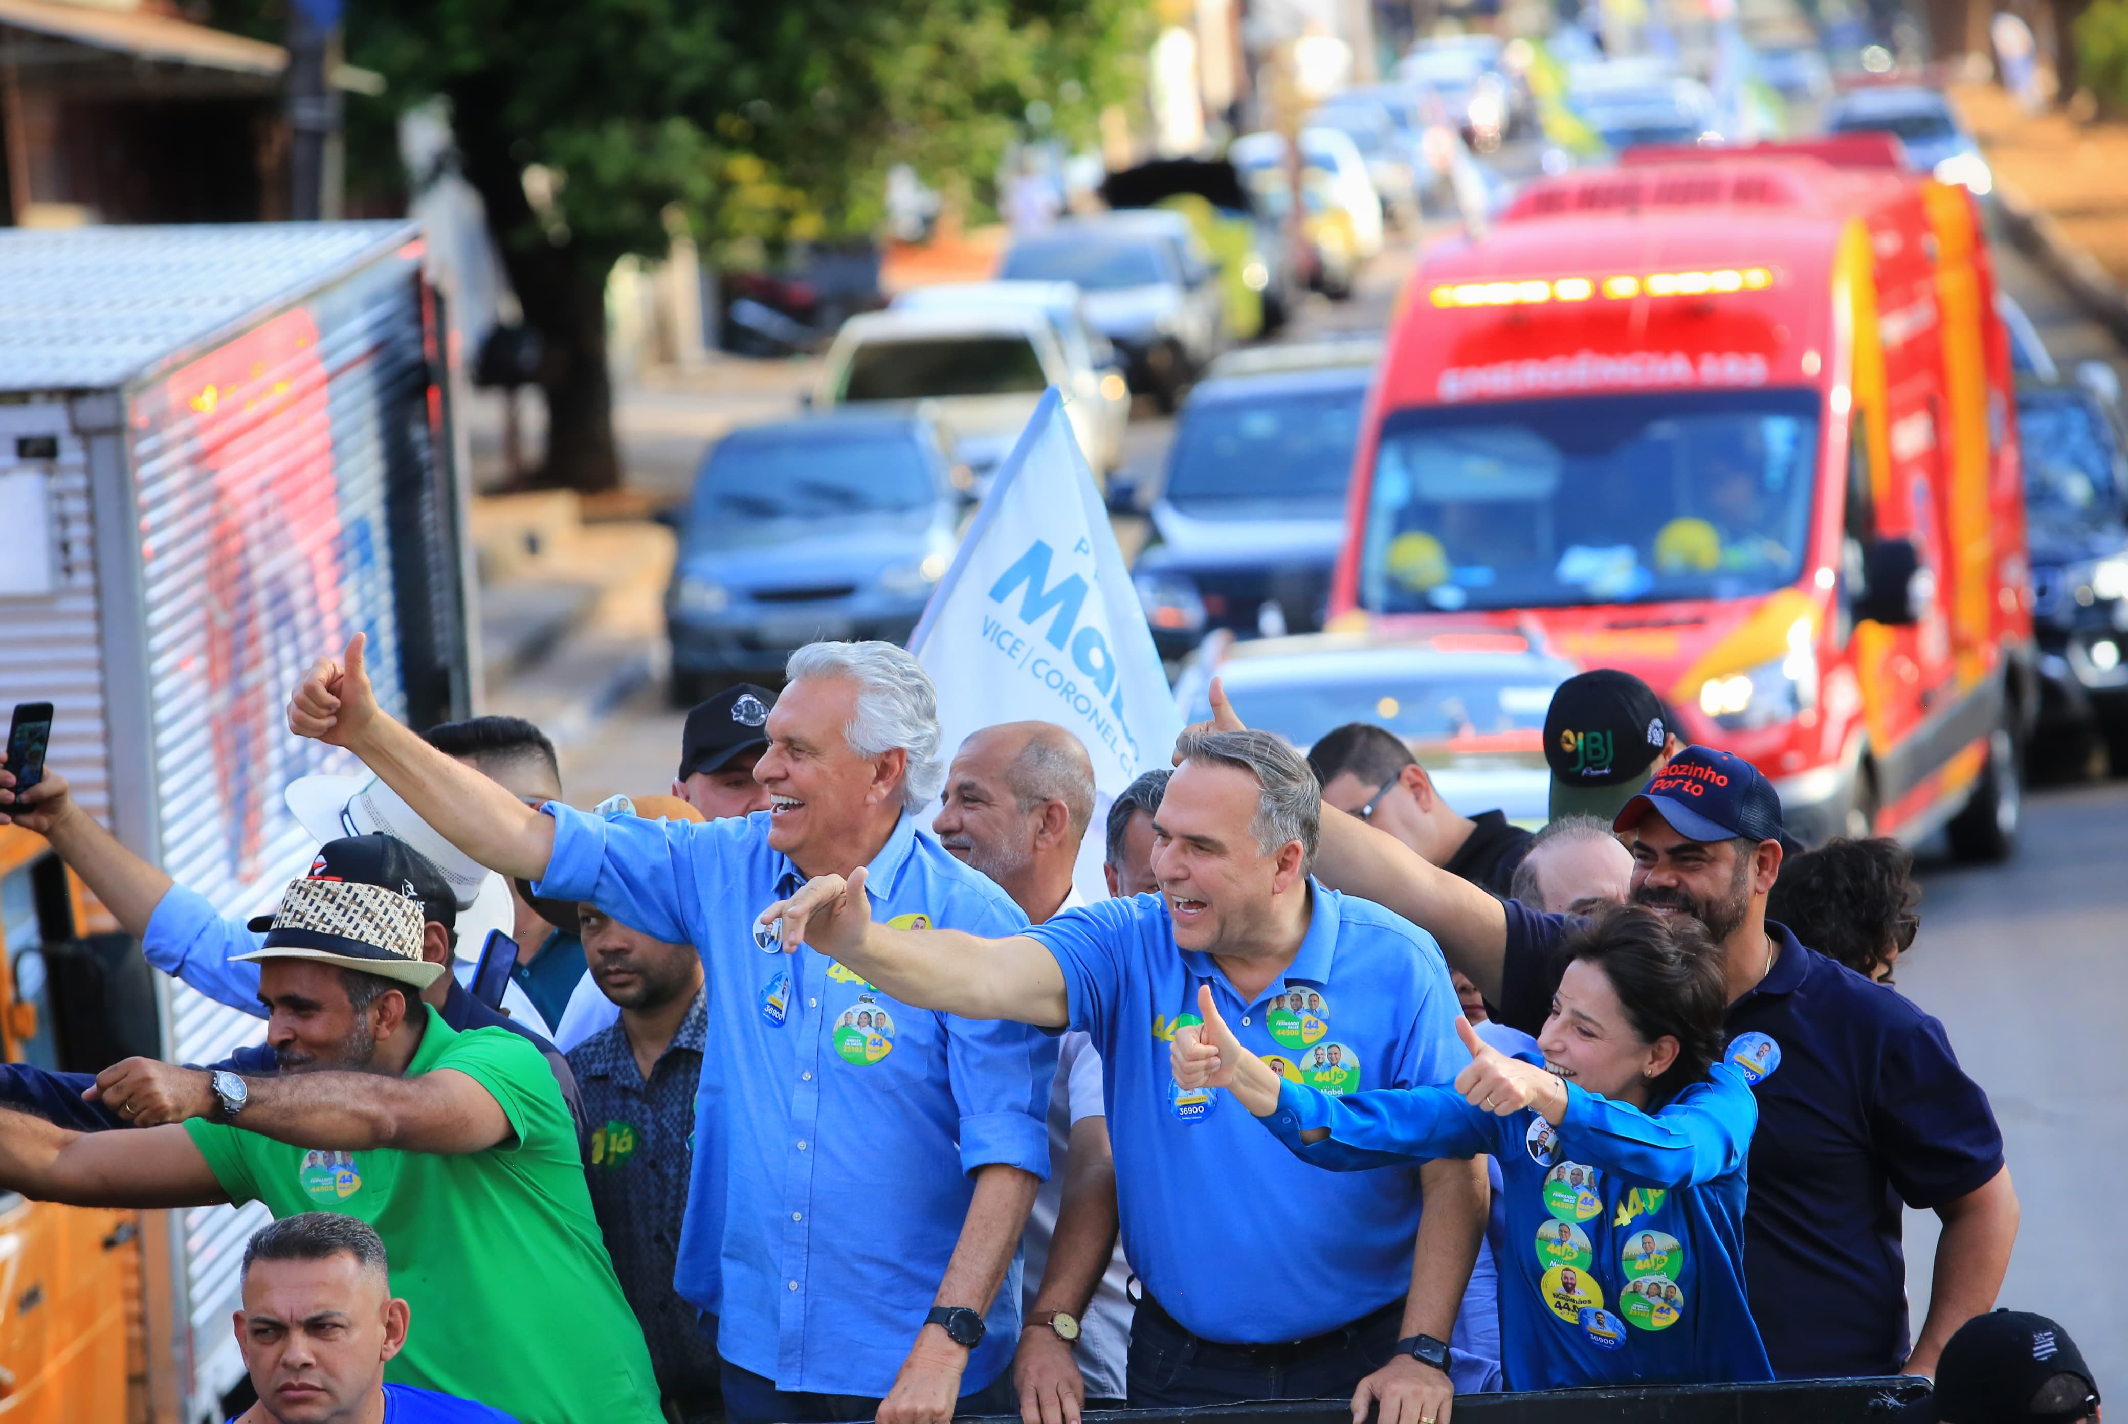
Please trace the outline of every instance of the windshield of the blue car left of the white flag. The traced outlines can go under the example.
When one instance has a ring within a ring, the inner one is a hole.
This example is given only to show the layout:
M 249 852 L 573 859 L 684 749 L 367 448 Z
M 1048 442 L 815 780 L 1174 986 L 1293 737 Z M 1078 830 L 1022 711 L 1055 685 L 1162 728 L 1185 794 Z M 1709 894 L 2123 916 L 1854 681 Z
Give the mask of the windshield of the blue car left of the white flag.
M 930 462 L 909 436 L 726 441 L 694 485 L 692 532 L 734 519 L 819 519 L 924 509 Z

